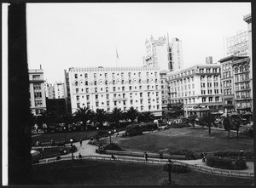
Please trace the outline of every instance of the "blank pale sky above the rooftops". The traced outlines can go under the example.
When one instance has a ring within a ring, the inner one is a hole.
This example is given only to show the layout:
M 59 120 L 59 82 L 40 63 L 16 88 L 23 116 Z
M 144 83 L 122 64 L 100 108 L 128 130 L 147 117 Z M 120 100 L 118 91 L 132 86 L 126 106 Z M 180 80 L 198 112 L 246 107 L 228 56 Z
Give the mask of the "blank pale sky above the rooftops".
M 250 3 L 27 3 L 28 64 L 48 83 L 69 67 L 143 66 L 146 38 L 167 32 L 183 41 L 185 67 L 216 62 L 250 13 Z

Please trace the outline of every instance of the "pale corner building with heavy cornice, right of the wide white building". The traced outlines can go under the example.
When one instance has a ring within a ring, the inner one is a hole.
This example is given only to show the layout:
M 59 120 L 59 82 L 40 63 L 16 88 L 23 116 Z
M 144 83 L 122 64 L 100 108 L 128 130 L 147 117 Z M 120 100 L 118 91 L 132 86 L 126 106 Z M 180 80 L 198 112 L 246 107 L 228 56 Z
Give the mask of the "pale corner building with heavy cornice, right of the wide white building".
M 201 117 L 205 111 L 221 112 L 220 66 L 207 64 L 167 73 L 170 104 L 183 104 L 184 116 Z

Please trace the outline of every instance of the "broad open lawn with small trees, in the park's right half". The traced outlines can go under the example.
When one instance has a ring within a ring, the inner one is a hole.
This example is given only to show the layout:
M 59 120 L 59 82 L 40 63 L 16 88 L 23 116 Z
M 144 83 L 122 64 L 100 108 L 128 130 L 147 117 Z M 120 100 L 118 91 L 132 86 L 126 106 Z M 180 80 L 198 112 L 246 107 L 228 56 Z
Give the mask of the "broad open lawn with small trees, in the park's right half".
M 170 128 L 161 132 L 143 134 L 130 138 L 113 140 L 122 149 L 128 151 L 168 152 L 171 150 L 189 149 L 190 151 L 222 151 L 222 150 L 253 150 L 253 139 L 236 133 L 212 129 L 208 135 L 208 128 Z

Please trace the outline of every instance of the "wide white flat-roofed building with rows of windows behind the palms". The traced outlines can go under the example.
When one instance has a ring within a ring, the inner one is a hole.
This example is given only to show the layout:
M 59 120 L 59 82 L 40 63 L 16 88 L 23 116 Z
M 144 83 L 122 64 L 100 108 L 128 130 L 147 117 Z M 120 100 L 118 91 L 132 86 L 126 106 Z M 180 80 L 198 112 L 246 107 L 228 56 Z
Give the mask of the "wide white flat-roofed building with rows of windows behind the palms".
M 161 116 L 159 67 L 69 68 L 66 77 L 72 113 L 85 106 L 109 112 L 133 106 Z

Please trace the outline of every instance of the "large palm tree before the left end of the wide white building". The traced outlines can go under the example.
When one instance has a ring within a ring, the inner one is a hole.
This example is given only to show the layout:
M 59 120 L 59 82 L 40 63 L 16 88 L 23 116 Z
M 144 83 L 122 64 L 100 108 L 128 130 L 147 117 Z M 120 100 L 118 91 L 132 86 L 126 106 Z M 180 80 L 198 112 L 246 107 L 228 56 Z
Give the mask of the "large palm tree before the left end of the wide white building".
M 79 109 L 74 112 L 74 117 L 77 122 L 82 122 L 84 129 L 87 129 L 86 122 L 91 119 L 92 114 L 93 113 L 89 107 L 79 107 Z

